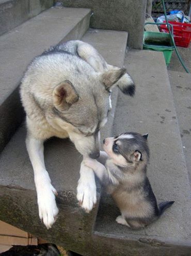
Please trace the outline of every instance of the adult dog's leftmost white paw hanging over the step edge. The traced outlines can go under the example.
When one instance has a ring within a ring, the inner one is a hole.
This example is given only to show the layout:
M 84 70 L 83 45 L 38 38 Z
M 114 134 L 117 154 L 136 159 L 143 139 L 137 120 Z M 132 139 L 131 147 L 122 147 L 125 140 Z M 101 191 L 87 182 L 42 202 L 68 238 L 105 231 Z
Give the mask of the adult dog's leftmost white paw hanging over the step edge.
M 55 195 L 57 192 L 50 182 L 37 189 L 39 217 L 47 229 L 52 227 L 58 214 Z

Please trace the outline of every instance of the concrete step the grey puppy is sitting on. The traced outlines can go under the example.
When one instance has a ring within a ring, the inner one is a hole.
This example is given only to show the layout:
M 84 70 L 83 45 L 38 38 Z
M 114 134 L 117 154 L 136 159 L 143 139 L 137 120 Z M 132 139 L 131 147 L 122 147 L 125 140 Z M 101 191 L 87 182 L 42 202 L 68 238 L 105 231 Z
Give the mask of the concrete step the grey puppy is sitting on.
M 137 91 L 134 98 L 119 93 L 113 135 L 125 131 L 149 133 L 148 177 L 153 191 L 158 202 L 175 203 L 146 229 L 131 231 L 115 221 L 119 210 L 110 196 L 104 194 L 95 222 L 94 241 L 103 246 L 102 255 L 188 256 L 190 186 L 163 53 L 131 50 L 125 66 L 135 80 Z

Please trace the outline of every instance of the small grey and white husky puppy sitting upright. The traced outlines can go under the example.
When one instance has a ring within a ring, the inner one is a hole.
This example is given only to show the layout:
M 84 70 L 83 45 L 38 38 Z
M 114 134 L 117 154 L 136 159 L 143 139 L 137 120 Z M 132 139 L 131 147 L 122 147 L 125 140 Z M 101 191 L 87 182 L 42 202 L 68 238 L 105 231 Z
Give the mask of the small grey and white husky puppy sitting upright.
M 147 178 L 148 134 L 123 133 L 103 140 L 100 161 L 85 159 L 121 211 L 116 221 L 131 229 L 139 229 L 159 218 L 174 201 L 157 205 Z

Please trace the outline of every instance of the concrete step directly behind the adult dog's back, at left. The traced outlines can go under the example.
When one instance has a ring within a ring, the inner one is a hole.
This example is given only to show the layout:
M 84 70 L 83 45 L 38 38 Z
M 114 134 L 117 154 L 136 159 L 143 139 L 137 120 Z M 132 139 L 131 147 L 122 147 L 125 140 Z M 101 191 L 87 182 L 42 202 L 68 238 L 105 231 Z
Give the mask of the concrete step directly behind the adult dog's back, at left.
M 80 39 L 90 10 L 51 8 L 0 37 L 0 152 L 23 120 L 18 86 L 30 61 L 52 45 Z

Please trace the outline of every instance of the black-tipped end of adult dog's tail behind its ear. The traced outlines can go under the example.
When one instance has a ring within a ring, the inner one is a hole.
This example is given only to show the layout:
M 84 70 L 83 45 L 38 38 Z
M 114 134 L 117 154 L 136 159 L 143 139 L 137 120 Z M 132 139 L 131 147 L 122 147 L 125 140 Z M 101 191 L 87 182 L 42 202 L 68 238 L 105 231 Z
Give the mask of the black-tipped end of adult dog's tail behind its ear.
M 135 83 L 128 73 L 125 73 L 117 82 L 117 86 L 122 93 L 130 96 L 135 94 Z

